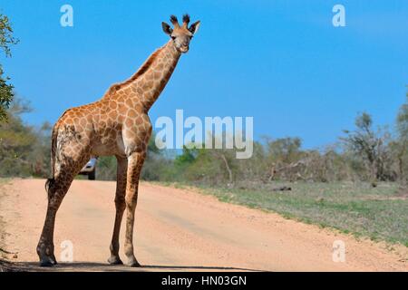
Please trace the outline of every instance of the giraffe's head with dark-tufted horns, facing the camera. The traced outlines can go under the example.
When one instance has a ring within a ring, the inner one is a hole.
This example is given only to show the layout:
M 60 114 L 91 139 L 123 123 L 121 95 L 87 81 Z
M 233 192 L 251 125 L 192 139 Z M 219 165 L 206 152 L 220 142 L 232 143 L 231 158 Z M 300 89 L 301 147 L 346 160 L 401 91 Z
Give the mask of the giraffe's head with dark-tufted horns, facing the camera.
M 176 48 L 181 53 L 187 53 L 189 51 L 189 42 L 193 34 L 199 30 L 199 21 L 189 25 L 189 14 L 184 14 L 182 25 L 179 24 L 177 17 L 174 15 L 170 16 L 170 22 L 174 28 L 171 28 L 170 25 L 165 22 L 161 23 L 164 33 L 169 34 Z

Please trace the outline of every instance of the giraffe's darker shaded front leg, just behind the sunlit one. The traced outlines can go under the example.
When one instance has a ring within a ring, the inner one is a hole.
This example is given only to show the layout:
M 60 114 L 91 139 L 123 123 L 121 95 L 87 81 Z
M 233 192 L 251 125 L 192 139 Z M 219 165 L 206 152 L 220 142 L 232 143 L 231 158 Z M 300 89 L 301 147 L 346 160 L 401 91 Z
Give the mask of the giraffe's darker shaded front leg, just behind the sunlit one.
M 123 218 L 123 211 L 126 207 L 125 193 L 126 193 L 126 179 L 128 170 L 128 160 L 126 158 L 116 157 L 118 160 L 118 168 L 116 173 L 116 196 L 115 208 L 116 217 L 113 227 L 111 256 L 108 259 L 111 265 L 121 265 L 121 258 L 119 256 L 119 234 L 121 231 L 121 219 Z

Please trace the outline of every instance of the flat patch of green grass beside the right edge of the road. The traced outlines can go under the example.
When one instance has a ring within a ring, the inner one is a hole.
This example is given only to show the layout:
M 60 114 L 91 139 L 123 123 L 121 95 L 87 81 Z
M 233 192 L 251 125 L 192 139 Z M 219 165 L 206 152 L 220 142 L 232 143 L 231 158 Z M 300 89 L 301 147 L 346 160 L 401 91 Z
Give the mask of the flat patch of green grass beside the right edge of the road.
M 290 191 L 271 188 L 289 186 Z M 177 187 L 183 185 L 176 184 Z M 279 183 L 252 189 L 199 187 L 220 201 L 277 212 L 320 227 L 333 227 L 356 237 L 370 237 L 408 247 L 408 191 L 397 184 L 379 183 Z

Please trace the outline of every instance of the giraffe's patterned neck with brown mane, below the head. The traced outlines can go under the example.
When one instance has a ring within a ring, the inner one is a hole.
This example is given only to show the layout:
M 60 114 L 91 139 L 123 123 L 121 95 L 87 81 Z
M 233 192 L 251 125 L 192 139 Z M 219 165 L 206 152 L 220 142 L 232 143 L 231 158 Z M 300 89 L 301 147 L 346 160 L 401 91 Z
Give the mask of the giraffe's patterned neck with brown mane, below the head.
M 131 79 L 116 85 L 116 88 L 113 86 L 113 89 L 118 92 L 123 90 L 126 99 L 133 99 L 133 103 L 141 105 L 143 111 L 149 111 L 169 82 L 180 55 L 170 40 L 152 53 Z

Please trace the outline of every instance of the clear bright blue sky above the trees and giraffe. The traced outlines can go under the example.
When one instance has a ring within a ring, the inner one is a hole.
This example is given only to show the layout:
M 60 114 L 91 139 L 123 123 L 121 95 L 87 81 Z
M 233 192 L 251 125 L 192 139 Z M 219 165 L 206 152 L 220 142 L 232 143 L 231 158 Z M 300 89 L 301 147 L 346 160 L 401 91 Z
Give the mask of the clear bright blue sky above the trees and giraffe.
M 73 5 L 74 26 L 60 25 Z M 332 25 L 345 5 L 346 27 Z M 408 84 L 408 1 L 0 0 L 20 43 L 0 61 L 34 111 L 52 123 L 100 99 L 168 41 L 161 21 L 188 12 L 199 33 L 151 120 L 253 116 L 255 137 L 298 136 L 306 148 L 337 140 L 358 112 L 393 124 Z

